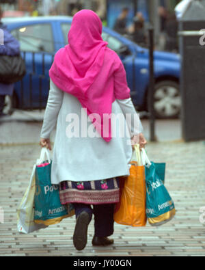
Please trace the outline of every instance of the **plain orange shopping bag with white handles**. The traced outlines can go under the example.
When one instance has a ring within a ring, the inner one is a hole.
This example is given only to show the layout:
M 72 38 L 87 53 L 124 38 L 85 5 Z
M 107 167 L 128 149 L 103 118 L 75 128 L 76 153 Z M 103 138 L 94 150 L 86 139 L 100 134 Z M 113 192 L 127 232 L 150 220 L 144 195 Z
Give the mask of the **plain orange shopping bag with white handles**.
M 118 224 L 146 226 L 145 168 L 141 163 L 139 145 L 135 146 L 130 176 L 122 180 L 120 202 L 116 205 L 114 221 Z

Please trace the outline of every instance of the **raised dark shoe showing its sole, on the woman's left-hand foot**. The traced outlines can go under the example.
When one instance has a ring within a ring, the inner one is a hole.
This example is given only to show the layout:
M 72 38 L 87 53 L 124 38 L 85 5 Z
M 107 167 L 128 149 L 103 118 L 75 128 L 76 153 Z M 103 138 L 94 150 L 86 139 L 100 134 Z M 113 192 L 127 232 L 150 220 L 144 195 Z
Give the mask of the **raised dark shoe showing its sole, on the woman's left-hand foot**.
M 73 234 L 73 245 L 77 250 L 82 250 L 87 244 L 87 227 L 90 224 L 90 215 L 83 211 L 77 217 Z

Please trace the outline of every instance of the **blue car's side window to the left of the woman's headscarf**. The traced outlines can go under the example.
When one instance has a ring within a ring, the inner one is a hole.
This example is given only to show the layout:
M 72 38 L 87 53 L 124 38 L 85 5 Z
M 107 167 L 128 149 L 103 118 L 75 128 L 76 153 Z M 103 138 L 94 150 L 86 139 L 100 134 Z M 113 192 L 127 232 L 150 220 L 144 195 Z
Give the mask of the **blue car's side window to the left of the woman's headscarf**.
M 21 51 L 54 51 L 52 27 L 49 23 L 20 27 L 13 30 L 12 35 L 20 42 Z

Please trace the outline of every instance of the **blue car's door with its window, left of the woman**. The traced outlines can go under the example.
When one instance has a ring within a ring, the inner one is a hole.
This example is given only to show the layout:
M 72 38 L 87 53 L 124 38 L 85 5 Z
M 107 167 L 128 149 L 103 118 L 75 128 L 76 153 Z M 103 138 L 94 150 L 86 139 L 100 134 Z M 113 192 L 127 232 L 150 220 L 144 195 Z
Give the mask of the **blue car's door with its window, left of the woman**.
M 49 69 L 55 53 L 52 23 L 25 23 L 11 31 L 20 42 L 27 68 L 23 81 L 15 84 L 18 107 L 42 109 L 49 94 Z

